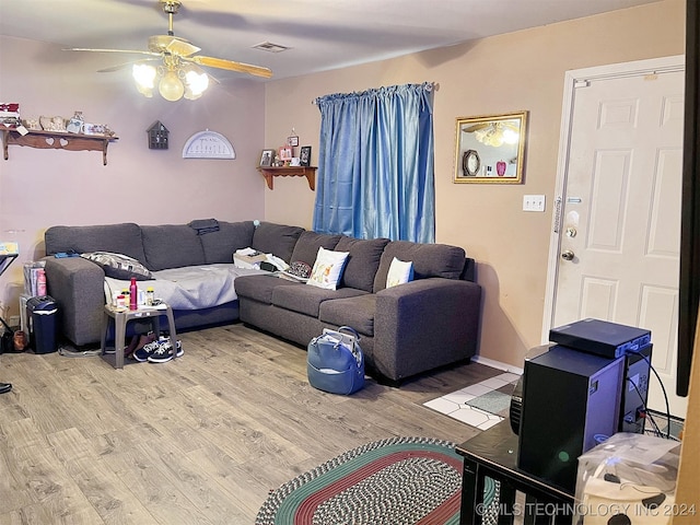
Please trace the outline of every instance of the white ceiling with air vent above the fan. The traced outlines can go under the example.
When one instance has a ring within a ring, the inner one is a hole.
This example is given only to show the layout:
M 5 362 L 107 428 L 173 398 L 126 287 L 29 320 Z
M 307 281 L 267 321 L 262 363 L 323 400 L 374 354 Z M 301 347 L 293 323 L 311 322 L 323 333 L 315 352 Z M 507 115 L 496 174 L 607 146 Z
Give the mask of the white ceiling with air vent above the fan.
M 183 0 L 175 35 L 200 55 L 283 79 L 382 60 L 657 0 Z M 0 34 L 62 47 L 145 50 L 167 33 L 159 0 L 0 0 Z M 270 42 L 290 49 L 253 49 Z M 66 51 L 67 62 L 84 60 Z M 95 63 L 94 54 L 89 62 Z M 138 56 L 101 54 L 112 67 Z M 208 70 L 220 80 L 243 73 Z M 0 71 L 0 74 L 7 72 Z M 105 73 L 108 74 L 108 73 Z

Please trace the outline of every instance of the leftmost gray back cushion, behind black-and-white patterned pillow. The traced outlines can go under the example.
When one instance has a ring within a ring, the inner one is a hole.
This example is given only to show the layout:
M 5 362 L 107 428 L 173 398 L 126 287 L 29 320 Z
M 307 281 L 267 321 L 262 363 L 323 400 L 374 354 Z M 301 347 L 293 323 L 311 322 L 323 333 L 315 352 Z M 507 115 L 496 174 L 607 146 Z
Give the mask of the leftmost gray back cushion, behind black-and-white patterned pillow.
M 112 252 L 145 261 L 141 228 L 132 222 L 94 226 L 51 226 L 44 234 L 46 255 L 59 252 Z

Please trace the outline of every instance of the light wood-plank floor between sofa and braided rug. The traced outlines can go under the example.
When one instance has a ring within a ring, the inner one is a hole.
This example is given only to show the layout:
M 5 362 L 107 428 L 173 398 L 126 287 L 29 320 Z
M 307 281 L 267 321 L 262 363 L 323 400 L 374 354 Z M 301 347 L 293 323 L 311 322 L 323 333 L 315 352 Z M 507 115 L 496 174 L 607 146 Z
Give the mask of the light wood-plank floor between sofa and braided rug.
M 350 396 L 306 381 L 305 350 L 244 325 L 178 336 L 185 355 L 0 357 L 0 523 L 253 524 L 270 490 L 361 444 L 460 443 L 478 431 L 421 404 L 498 375 L 459 365 Z

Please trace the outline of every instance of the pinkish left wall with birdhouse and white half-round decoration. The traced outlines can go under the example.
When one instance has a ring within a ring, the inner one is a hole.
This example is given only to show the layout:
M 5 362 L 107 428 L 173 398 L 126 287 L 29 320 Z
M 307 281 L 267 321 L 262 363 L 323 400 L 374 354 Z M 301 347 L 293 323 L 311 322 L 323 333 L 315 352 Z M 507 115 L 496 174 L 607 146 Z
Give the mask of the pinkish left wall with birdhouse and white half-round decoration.
M 22 264 L 44 255 L 44 231 L 54 224 L 186 223 L 192 219 L 262 219 L 258 165 L 264 142 L 262 84 L 212 85 L 198 101 L 168 103 L 140 95 L 129 69 L 96 70 L 124 57 L 62 51 L 45 43 L 0 37 L 0 98 L 19 102 L 22 116 L 82 110 L 89 122 L 119 136 L 100 152 L 37 150 L 18 145 L 0 159 L 0 241 L 20 243 L 20 260 L 0 278 L 0 312 L 16 315 Z M 170 149 L 148 149 L 147 129 L 161 120 Z M 183 159 L 197 131 L 222 133 L 235 160 Z

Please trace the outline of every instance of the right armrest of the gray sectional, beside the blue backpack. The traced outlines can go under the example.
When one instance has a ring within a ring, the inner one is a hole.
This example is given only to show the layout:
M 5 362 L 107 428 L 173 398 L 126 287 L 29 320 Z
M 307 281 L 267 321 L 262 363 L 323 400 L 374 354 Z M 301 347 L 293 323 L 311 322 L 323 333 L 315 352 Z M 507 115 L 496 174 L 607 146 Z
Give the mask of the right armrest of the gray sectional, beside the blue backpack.
M 374 365 L 393 381 L 476 353 L 481 287 L 430 278 L 376 294 Z

